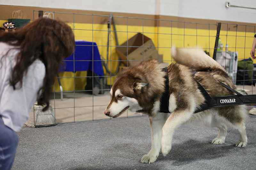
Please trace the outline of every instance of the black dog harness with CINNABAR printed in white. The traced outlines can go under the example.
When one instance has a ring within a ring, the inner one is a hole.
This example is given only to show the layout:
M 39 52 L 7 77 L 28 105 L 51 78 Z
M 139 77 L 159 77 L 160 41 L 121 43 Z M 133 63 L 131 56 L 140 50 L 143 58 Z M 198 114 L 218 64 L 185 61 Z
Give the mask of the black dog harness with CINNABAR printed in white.
M 163 71 L 166 72 L 165 78 L 165 91 L 161 96 L 161 104 L 160 104 L 160 111 L 161 113 L 170 113 L 169 112 L 169 76 L 167 67 L 163 68 Z M 195 80 L 196 81 L 196 80 Z M 220 82 L 220 81 L 219 81 Z M 213 108 L 213 107 L 222 107 L 222 106 L 233 106 L 233 105 L 249 105 L 255 104 L 256 105 L 256 95 L 243 95 L 236 90 L 230 88 L 229 86 L 225 85 L 224 83 L 220 82 L 225 88 L 227 88 L 231 92 L 235 92 L 237 95 L 229 95 L 229 96 L 220 96 L 220 97 L 211 97 L 204 87 L 198 83 L 198 88 L 201 93 L 204 95 L 205 102 L 198 108 L 194 113 L 202 112 L 204 110 Z

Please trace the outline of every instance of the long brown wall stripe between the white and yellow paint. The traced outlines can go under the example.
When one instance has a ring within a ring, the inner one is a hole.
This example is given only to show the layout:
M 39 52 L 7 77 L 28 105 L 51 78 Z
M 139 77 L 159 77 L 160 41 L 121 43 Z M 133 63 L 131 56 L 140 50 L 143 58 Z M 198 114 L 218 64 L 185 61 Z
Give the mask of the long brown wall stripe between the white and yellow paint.
M 163 26 L 163 27 L 178 27 L 178 28 L 194 28 L 216 30 L 217 23 L 221 22 L 222 31 L 241 31 L 255 32 L 256 23 L 243 23 L 232 21 L 220 21 L 210 19 L 183 18 L 163 15 L 144 15 L 134 13 L 118 13 L 118 12 L 103 12 L 103 11 L 85 11 L 85 10 L 70 10 L 57 8 L 42 8 L 30 6 L 12 6 L 0 5 L 0 20 L 8 20 L 11 18 L 12 11 L 23 10 L 27 18 L 33 20 L 38 18 L 38 11 L 52 11 L 55 13 L 55 18 L 66 22 L 89 23 L 89 24 L 107 24 L 109 15 L 115 17 L 116 25 L 128 26 Z M 69 14 L 65 14 L 69 13 Z M 75 15 L 73 15 L 75 13 Z M 33 15 L 34 14 L 34 15 Z M 86 14 L 86 15 L 84 15 Z M 93 16 L 92 16 L 93 14 Z

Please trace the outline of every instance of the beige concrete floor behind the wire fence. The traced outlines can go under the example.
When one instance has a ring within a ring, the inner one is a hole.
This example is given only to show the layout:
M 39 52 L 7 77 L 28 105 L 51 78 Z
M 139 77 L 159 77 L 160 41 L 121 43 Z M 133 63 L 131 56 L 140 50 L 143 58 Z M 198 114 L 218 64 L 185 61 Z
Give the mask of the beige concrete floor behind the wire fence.
M 254 86 L 239 85 L 237 87 L 246 89 L 248 94 L 256 94 L 256 87 Z M 97 96 L 85 92 L 64 92 L 63 100 L 60 100 L 60 93 L 56 92 L 55 100 L 54 96 L 52 98 L 51 105 L 55 108 L 55 117 L 58 123 L 109 119 L 108 116 L 103 114 L 110 100 L 109 91 Z M 120 117 L 134 115 L 141 114 L 127 111 Z

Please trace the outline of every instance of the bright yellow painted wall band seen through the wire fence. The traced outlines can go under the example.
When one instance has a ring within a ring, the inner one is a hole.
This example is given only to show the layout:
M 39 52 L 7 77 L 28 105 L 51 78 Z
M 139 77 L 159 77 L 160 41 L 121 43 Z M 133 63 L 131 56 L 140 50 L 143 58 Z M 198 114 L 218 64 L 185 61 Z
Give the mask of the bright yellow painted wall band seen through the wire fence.
M 5 21 L 0 21 L 3 24 Z M 106 24 L 83 24 L 73 23 L 69 24 L 72 28 L 75 28 L 74 34 L 76 40 L 94 41 L 97 43 L 100 55 L 102 59 L 106 59 L 107 55 L 107 25 Z M 76 30 L 79 29 L 79 30 Z M 94 31 L 92 31 L 94 30 Z M 112 29 L 113 30 L 113 29 Z M 173 45 L 176 47 L 193 47 L 200 46 L 204 50 L 210 51 L 210 55 L 213 55 L 213 48 L 215 43 L 216 30 L 205 30 L 205 29 L 189 29 L 189 28 L 170 28 L 170 27 L 159 27 L 158 29 L 154 26 L 124 26 L 116 25 L 117 36 L 119 44 L 124 43 L 127 39 L 131 38 L 137 32 L 144 33 L 152 39 L 155 46 L 158 47 L 159 54 L 163 54 L 163 59 L 167 63 L 172 62 L 171 48 Z M 158 31 L 158 34 L 157 34 Z M 184 35 L 185 34 L 185 35 Z M 197 36 L 196 36 L 197 35 Z M 209 37 L 210 35 L 210 37 Z M 246 36 L 246 37 L 245 37 Z M 249 32 L 235 32 L 235 31 L 220 31 L 220 39 L 224 47 L 228 44 L 228 50 L 237 51 L 238 59 L 244 59 L 250 57 L 250 51 L 252 48 L 254 33 Z M 114 32 L 110 36 L 110 48 L 109 58 L 110 60 L 118 60 L 118 56 L 115 51 L 115 38 Z M 210 48 L 210 49 L 209 49 Z M 225 48 L 223 49 L 225 50 Z M 115 72 L 117 67 L 117 61 L 109 62 L 109 68 Z M 254 63 L 255 60 L 254 60 Z M 86 76 L 86 72 L 77 72 L 76 77 Z M 71 72 L 60 73 L 60 77 L 74 77 Z M 86 84 L 86 78 L 76 78 L 75 86 L 76 90 L 83 90 Z M 114 78 L 108 78 L 108 85 L 114 82 Z M 74 78 L 61 78 L 61 82 L 65 91 L 74 90 Z M 56 91 L 59 91 L 58 83 L 54 84 L 53 87 Z

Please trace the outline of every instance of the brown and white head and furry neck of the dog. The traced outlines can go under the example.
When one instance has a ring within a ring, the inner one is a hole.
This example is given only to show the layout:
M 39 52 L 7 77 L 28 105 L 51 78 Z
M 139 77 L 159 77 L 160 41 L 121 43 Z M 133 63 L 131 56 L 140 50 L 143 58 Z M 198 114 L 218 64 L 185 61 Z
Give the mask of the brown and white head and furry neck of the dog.
M 163 77 L 158 69 L 158 62 L 150 60 L 140 63 L 136 67 L 125 69 L 119 74 L 111 88 L 111 100 L 104 114 L 118 117 L 127 109 L 132 112 L 152 109 L 156 98 L 159 98 L 159 89 L 163 89 L 160 79 Z M 153 73 L 153 72 L 156 73 Z

